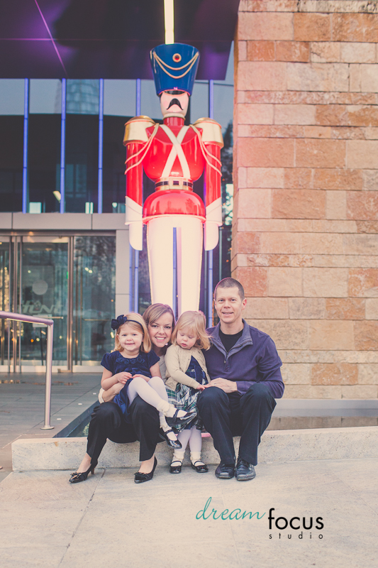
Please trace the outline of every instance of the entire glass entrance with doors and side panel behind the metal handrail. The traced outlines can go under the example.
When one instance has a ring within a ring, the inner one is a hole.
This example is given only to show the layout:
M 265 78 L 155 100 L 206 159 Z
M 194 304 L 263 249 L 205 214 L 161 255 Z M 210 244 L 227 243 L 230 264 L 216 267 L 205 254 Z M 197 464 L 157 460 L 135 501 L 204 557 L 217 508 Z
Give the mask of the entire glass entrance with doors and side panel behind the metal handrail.
M 54 320 L 54 372 L 93 371 L 114 348 L 115 293 L 115 236 L 0 236 L 0 310 Z M 45 371 L 43 324 L 0 332 L 1 372 Z

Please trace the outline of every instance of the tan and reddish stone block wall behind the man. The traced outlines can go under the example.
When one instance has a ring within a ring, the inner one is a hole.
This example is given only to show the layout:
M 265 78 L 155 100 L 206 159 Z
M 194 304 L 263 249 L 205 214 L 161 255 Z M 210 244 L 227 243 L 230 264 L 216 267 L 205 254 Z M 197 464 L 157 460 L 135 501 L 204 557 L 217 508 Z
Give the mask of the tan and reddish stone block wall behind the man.
M 378 1 L 241 0 L 232 274 L 288 398 L 377 398 Z

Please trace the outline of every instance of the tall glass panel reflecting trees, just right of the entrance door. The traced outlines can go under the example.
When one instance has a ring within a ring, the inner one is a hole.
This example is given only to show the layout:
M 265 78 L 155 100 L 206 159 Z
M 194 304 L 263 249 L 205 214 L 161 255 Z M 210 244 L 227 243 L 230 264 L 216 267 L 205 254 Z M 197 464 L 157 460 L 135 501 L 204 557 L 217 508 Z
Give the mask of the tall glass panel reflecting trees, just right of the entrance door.
M 75 237 L 74 365 L 99 365 L 102 356 L 114 349 L 115 295 L 116 238 Z

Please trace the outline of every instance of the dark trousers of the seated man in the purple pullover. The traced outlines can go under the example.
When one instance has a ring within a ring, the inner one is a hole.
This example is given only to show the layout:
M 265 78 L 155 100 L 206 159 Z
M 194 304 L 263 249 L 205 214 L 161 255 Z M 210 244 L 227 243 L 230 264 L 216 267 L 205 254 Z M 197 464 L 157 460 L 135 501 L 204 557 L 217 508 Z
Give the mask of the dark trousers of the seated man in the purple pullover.
M 240 436 L 239 457 L 257 465 L 257 446 L 276 405 L 269 387 L 255 383 L 248 391 L 226 394 L 216 386 L 205 388 L 197 400 L 199 415 L 213 437 L 223 464 L 233 464 L 233 436 Z

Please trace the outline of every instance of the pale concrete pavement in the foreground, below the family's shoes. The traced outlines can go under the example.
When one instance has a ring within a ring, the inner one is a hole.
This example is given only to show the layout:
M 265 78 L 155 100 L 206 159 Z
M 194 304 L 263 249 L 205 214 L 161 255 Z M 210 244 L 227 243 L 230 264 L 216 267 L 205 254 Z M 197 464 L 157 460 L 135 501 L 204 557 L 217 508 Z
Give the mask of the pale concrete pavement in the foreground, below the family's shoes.
M 261 464 L 243 483 L 214 469 L 174 476 L 158 465 L 140 485 L 135 468 L 98 469 L 74 485 L 69 471 L 14 472 L 0 484 L 1 567 L 377 567 L 378 459 Z M 313 527 L 269 530 L 270 508 Z

